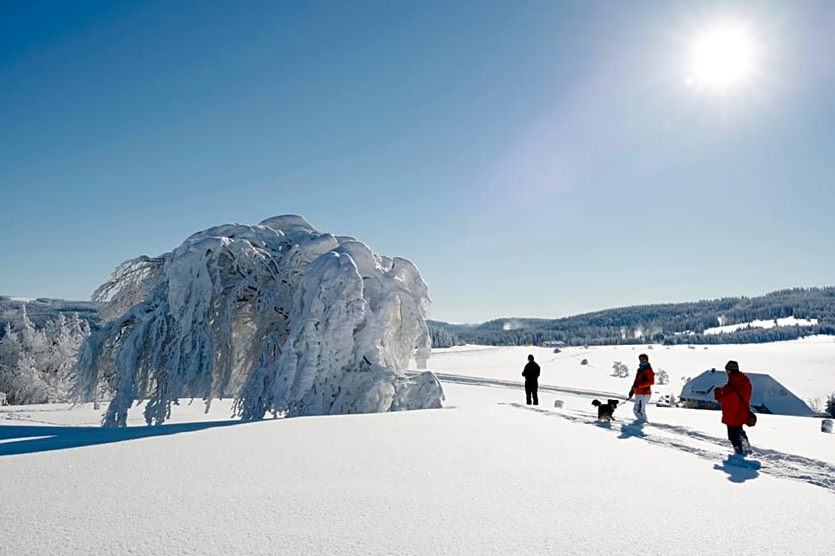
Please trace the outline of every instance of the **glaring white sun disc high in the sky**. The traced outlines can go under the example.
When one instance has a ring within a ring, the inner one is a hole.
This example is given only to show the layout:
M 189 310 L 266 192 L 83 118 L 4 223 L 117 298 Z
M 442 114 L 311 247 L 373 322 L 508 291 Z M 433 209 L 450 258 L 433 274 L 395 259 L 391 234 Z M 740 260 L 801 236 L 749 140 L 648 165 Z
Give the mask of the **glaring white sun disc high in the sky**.
M 704 29 L 690 44 L 688 83 L 725 93 L 751 81 L 757 70 L 757 44 L 751 31 L 736 23 Z

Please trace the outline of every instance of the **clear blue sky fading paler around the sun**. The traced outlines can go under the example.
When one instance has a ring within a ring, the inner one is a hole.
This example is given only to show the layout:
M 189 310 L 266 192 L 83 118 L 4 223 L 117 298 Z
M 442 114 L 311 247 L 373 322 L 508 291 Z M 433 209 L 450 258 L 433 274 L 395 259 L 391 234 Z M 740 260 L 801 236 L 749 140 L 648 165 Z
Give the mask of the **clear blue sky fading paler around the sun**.
M 718 20 L 759 44 L 688 83 Z M 219 223 L 418 265 L 432 317 L 835 284 L 835 4 L 5 2 L 0 294 Z

